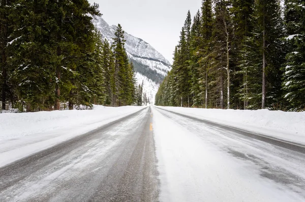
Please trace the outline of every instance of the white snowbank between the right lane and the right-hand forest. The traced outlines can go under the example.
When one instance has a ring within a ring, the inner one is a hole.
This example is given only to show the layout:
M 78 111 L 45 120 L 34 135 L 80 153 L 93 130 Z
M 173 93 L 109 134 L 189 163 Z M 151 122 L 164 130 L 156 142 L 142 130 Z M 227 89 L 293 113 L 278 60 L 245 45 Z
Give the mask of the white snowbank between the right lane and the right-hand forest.
M 292 141 L 305 145 L 305 111 L 285 112 L 233 109 L 199 109 L 184 107 L 161 107 L 201 120 L 211 121 L 242 130 Z

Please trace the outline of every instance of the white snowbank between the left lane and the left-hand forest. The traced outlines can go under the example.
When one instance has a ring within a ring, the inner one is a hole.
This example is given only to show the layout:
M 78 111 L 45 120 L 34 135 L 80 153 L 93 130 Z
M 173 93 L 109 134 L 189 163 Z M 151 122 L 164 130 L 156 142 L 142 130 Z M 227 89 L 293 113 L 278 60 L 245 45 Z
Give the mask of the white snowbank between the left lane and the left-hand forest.
M 0 114 L 0 167 L 84 134 L 142 109 L 143 106 L 94 110 Z

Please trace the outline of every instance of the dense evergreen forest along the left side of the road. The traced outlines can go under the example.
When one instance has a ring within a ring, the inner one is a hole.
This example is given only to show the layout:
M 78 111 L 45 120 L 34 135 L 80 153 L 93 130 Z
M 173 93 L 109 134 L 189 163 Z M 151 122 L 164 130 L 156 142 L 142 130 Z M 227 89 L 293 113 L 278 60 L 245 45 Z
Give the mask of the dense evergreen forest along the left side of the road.
M 113 44 L 87 0 L 0 0 L 2 109 L 73 109 L 137 103 L 133 64 L 118 24 Z

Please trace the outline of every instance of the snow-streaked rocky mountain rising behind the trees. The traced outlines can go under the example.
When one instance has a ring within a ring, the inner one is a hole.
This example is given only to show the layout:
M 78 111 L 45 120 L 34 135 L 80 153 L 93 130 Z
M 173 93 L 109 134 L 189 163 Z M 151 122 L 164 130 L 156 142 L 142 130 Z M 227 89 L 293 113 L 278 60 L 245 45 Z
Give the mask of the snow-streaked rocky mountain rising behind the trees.
M 116 26 L 110 26 L 102 17 L 93 19 L 93 23 L 110 43 L 113 42 Z M 171 69 L 171 64 L 153 46 L 144 40 L 125 32 L 125 48 L 129 60 L 133 62 L 138 84 L 143 82 L 143 92 L 151 101 L 155 101 L 155 95 L 159 85 Z

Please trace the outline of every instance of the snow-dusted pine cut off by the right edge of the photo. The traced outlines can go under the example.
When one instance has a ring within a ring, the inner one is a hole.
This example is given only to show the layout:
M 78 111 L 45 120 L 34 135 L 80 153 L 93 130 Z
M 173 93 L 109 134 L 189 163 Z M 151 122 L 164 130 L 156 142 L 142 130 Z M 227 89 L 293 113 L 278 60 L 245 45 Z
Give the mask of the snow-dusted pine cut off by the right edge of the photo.
M 285 25 L 289 52 L 283 89 L 292 110 L 305 109 L 305 3 L 300 0 L 285 1 Z

